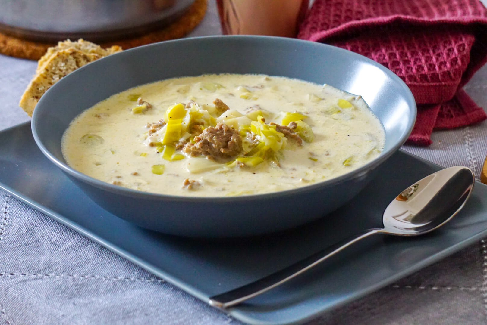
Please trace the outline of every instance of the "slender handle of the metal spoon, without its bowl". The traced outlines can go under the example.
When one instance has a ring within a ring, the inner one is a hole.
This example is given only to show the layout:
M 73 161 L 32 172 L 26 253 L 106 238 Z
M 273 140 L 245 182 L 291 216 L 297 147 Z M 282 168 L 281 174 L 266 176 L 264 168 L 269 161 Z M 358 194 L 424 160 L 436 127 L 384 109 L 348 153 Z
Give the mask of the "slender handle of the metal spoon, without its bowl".
M 212 296 L 209 298 L 209 304 L 218 308 L 227 308 L 240 304 L 247 299 L 258 296 L 267 290 L 281 285 L 282 283 L 300 275 L 304 271 L 311 269 L 315 265 L 318 265 L 330 256 L 344 250 L 357 241 L 380 231 L 380 229 L 370 229 L 360 235 L 342 240 L 335 245 L 327 247 L 318 253 L 314 253 L 313 255 L 282 269 L 281 271 L 267 275 L 262 279 L 251 282 L 237 289 L 232 289 L 230 291 Z

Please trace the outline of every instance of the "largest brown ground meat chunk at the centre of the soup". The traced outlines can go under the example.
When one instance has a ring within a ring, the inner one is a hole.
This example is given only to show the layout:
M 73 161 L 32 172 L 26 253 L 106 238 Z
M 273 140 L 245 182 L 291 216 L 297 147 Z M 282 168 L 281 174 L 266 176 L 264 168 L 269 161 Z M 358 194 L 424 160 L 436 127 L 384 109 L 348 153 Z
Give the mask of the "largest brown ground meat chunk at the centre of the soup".
M 183 149 L 192 157 L 205 155 L 218 161 L 234 157 L 243 150 L 239 131 L 223 123 L 207 127 L 203 133 L 194 137 L 194 141 L 194 144 L 188 143 Z

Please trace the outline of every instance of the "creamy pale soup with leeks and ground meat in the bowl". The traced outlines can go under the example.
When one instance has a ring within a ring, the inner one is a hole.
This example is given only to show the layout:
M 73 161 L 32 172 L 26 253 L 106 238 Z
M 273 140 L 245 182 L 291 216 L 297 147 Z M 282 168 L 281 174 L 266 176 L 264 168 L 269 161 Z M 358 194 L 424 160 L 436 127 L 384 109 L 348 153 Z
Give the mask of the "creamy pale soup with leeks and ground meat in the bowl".
M 95 179 L 205 197 L 329 180 L 383 146 L 383 127 L 360 96 L 254 74 L 135 87 L 82 112 L 62 138 L 66 162 Z

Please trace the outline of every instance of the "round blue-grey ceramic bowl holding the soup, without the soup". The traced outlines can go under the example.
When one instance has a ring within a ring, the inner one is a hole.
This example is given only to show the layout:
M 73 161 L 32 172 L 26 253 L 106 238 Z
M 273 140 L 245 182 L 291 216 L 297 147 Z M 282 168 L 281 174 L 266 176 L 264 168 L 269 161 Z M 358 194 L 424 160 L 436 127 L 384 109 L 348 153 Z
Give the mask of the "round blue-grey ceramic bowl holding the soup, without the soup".
M 95 180 L 64 161 L 64 130 L 79 113 L 99 101 L 157 80 L 224 72 L 286 76 L 362 95 L 385 128 L 385 148 L 374 161 L 332 180 L 288 191 L 225 198 L 139 192 Z M 415 118 L 414 98 L 404 82 L 364 56 L 291 38 L 211 36 L 150 44 L 78 69 L 42 96 L 32 118 L 32 133 L 44 155 L 115 216 L 166 234 L 232 237 L 280 231 L 337 209 L 406 141 Z

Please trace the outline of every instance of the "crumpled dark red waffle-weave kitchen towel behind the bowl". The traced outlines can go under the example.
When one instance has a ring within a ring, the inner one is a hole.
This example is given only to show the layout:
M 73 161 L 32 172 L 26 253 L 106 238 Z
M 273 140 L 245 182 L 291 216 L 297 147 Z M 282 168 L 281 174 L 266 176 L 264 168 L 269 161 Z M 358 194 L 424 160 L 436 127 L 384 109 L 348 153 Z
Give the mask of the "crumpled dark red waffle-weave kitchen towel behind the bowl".
M 433 129 L 487 118 L 462 87 L 487 62 L 487 9 L 478 0 L 316 0 L 298 38 L 367 56 L 411 89 L 418 115 L 409 143 Z

